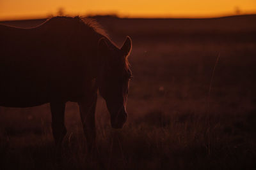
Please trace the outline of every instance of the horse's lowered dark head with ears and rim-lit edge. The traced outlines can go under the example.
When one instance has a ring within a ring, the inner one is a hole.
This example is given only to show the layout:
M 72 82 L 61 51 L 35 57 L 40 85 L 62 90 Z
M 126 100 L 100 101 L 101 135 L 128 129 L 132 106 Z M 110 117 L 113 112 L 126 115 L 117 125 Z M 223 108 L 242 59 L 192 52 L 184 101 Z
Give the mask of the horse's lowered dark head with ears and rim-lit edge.
M 111 115 L 111 126 L 122 128 L 127 120 L 127 94 L 132 73 L 127 57 L 131 52 L 131 38 L 127 36 L 122 48 L 118 48 L 108 38 L 99 40 L 100 73 L 98 86 Z

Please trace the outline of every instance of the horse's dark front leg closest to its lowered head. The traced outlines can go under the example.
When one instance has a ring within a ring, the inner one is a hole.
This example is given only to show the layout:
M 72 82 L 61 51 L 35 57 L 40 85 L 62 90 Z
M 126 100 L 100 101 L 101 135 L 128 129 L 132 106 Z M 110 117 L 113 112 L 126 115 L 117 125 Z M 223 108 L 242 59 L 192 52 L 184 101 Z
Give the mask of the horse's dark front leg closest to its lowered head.
M 81 121 L 83 124 L 84 136 L 87 142 L 88 152 L 93 152 L 95 149 L 95 108 L 97 103 L 97 93 L 93 94 L 92 98 L 83 99 L 78 102 Z

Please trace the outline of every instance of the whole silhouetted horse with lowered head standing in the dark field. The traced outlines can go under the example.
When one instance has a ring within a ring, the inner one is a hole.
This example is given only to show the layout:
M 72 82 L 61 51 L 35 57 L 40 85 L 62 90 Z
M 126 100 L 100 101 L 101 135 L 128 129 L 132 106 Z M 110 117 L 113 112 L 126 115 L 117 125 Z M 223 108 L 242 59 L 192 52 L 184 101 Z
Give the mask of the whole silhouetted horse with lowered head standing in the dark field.
M 131 48 L 129 36 L 118 48 L 89 18 L 52 17 L 28 28 L 0 25 L 0 106 L 50 103 L 52 135 L 59 146 L 67 133 L 65 104 L 75 102 L 92 149 L 98 92 L 113 128 L 122 128 L 127 120 Z

